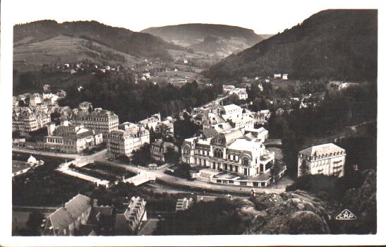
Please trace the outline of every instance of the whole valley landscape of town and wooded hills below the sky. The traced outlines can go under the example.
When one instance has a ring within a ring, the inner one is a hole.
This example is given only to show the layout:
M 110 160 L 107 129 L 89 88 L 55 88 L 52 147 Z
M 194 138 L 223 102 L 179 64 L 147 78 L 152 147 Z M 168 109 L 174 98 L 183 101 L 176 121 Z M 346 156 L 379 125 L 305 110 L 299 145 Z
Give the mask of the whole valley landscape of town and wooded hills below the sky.
M 377 79 L 276 46 L 307 25 L 241 28 L 251 40 L 16 25 L 12 235 L 375 234 Z

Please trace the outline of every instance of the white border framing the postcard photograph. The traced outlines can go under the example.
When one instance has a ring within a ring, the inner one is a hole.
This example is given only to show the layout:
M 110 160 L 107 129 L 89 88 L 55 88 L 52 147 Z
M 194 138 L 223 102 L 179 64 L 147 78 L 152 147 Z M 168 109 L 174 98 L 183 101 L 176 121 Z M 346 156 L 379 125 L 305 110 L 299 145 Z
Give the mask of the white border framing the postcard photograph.
M 171 0 L 170 0 L 171 1 Z M 285 0 L 283 0 L 285 1 Z M 56 4 L 66 4 L 66 0 L 56 1 Z M 153 1 L 143 3 L 143 10 L 151 8 Z M 174 11 L 174 8 L 168 6 L 169 0 L 164 0 L 165 8 L 159 11 L 165 11 L 164 18 L 173 18 L 166 11 Z M 213 1 L 208 1 L 212 3 Z M 280 2 L 280 1 L 279 1 Z M 294 8 L 301 8 L 302 4 L 308 1 L 294 1 Z M 200 1 L 200 3 L 203 3 Z M 219 9 L 213 9 L 213 15 L 221 15 L 220 9 L 222 4 L 244 4 L 246 8 L 256 8 L 264 4 L 265 1 L 217 1 Z M 378 8 L 378 153 L 382 154 L 382 140 L 385 138 L 385 114 L 382 106 L 385 105 L 385 4 L 384 1 L 315 1 L 319 6 L 326 8 Z M 93 11 L 92 6 L 109 4 L 109 1 L 92 1 L 89 9 L 83 11 Z M 186 4 L 189 4 L 186 2 Z M 195 1 L 191 1 L 195 4 Z M 99 6 L 100 7 L 100 6 Z M 0 105 L 3 121 L 0 121 L 1 138 L 0 152 L 2 162 L 0 181 L 1 181 L 1 203 L 0 203 L 0 245 L 1 246 L 291 246 L 291 245 L 380 245 L 386 244 L 385 238 L 385 179 L 382 179 L 385 174 L 385 164 L 382 164 L 382 159 L 378 155 L 378 234 L 374 236 L 363 235 L 306 235 L 306 236 L 125 236 L 125 237 L 11 237 L 11 91 L 12 91 L 12 47 L 13 47 L 13 13 L 14 11 L 23 8 L 23 4 L 13 4 L 10 0 L 1 1 L 1 80 L 0 80 Z M 44 8 L 40 4 L 36 4 L 36 8 Z M 76 8 L 76 6 L 73 6 Z M 119 6 L 117 6 L 119 8 Z M 188 6 L 186 7 L 188 8 Z M 205 8 L 205 6 L 202 6 Z M 280 5 L 277 6 L 280 8 Z M 143 11 L 141 9 L 137 11 Z M 31 13 L 34 9 L 28 9 Z M 291 14 L 291 9 L 287 10 Z M 106 13 L 108 14 L 108 13 Z M 110 13 L 114 15 L 114 13 Z M 130 14 L 130 10 L 128 10 Z M 198 21 L 199 13 L 190 13 L 187 15 L 196 14 Z M 231 17 L 229 17 L 231 18 Z M 277 17 L 276 17 L 277 18 Z M 285 18 L 285 16 L 283 16 Z M 140 20 L 138 20 L 140 21 Z M 288 27 L 291 28 L 291 25 Z

